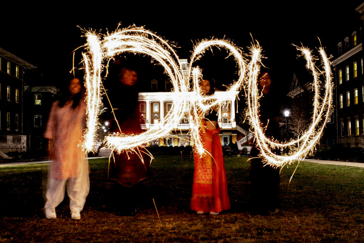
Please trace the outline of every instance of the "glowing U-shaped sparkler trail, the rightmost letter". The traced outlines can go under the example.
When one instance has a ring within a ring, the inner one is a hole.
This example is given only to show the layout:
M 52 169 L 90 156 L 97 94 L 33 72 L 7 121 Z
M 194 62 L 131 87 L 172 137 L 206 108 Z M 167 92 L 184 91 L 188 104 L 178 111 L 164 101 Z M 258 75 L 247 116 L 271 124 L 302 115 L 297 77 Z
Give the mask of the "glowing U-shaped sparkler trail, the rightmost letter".
M 312 151 L 315 145 L 319 142 L 322 136 L 325 124 L 330 115 L 330 108 L 332 106 L 333 100 L 333 83 L 332 83 L 332 73 L 330 69 L 330 61 L 325 54 L 323 48 L 319 49 L 321 60 L 324 66 L 325 75 L 325 94 L 322 98 L 320 95 L 320 85 L 319 80 L 320 71 L 317 70 L 314 63 L 314 57 L 308 48 L 298 48 L 299 51 L 305 56 L 307 61 L 307 69 L 309 69 L 313 75 L 314 82 L 313 88 L 315 90 L 314 104 L 313 104 L 313 117 L 309 129 L 297 140 L 291 140 L 287 143 L 278 143 L 272 141 L 264 135 L 264 128 L 262 128 L 259 121 L 259 97 L 261 94 L 258 92 L 257 88 L 257 76 L 259 72 L 259 62 L 260 62 L 260 51 L 255 49 L 252 51 L 252 60 L 249 63 L 249 75 L 248 81 L 246 83 L 246 96 L 247 96 L 247 112 L 249 115 L 249 122 L 254 127 L 254 135 L 257 141 L 257 145 L 260 149 L 260 155 L 264 158 L 265 162 L 273 167 L 284 166 L 290 164 L 293 161 L 301 161 L 306 155 Z M 272 151 L 275 148 L 289 148 L 290 152 L 286 156 L 280 156 L 274 154 Z

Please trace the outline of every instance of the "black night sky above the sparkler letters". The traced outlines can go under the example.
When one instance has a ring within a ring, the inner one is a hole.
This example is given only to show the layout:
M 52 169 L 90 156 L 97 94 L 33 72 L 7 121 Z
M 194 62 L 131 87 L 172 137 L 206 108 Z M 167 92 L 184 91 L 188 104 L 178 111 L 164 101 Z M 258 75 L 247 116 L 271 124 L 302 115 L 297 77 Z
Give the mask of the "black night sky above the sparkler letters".
M 177 42 L 181 58 L 189 58 L 192 41 L 212 36 L 225 36 L 247 52 L 252 35 L 263 47 L 267 57 L 264 64 L 274 70 L 274 78 L 287 89 L 297 68 L 292 44 L 302 42 L 314 49 L 320 46 L 319 37 L 328 54 L 335 55 L 337 43 L 356 30 L 352 23 L 360 16 L 355 8 L 362 1 L 350 0 L 342 5 L 320 0 L 280 2 L 169 1 L 170 5 L 143 5 L 138 1 L 100 1 L 95 6 L 65 2 L 10 6 L 0 16 L 0 47 L 37 66 L 47 82 L 58 83 L 72 67 L 68 55 L 86 41 L 78 26 L 106 33 L 107 29 L 115 30 L 119 22 L 123 27 L 144 25 Z

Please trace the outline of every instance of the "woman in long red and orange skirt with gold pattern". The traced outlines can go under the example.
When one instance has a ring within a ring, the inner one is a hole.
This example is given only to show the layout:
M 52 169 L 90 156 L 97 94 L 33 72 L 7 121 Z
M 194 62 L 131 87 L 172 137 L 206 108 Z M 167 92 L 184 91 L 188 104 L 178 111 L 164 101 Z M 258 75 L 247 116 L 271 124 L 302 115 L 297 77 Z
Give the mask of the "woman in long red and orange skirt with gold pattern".
M 200 83 L 204 95 L 214 93 L 214 83 L 204 79 Z M 197 214 L 218 215 L 230 209 L 227 196 L 226 172 L 217 124 L 217 109 L 214 108 L 202 119 L 201 137 L 206 150 L 201 158 L 194 153 L 194 174 L 190 209 Z

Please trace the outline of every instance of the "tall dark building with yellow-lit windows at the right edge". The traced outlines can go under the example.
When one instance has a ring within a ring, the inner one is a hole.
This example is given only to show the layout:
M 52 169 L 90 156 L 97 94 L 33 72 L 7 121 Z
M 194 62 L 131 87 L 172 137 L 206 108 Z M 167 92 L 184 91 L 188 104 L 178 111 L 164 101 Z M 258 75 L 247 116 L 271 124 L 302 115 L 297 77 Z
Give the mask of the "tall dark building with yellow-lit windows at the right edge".
M 335 78 L 335 121 L 337 143 L 344 147 L 364 147 L 364 3 L 356 8 L 361 15 L 349 36 L 338 43 L 332 61 Z

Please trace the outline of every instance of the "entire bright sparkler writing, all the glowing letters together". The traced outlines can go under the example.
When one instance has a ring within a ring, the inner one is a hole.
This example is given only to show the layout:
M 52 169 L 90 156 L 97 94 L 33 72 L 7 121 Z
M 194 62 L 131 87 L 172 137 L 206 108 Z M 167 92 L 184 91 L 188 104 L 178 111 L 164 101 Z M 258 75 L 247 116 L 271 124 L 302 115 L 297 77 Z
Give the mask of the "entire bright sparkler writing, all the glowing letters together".
M 250 48 L 250 60 L 247 60 L 243 57 L 242 50 L 230 41 L 221 39 L 203 40 L 194 48 L 188 74 L 182 75 L 179 57 L 173 47 L 167 41 L 143 27 L 131 26 L 106 35 L 88 31 L 86 32 L 86 37 L 87 52 L 83 53 L 87 89 L 87 130 L 85 131 L 85 142 L 83 144 L 86 151 L 93 149 L 97 126 L 100 126 L 97 123 L 97 117 L 102 110 L 101 73 L 104 69 L 107 71 L 107 66 L 103 63 L 121 53 L 139 53 L 152 57 L 152 59 L 164 67 L 165 72 L 171 78 L 174 95 L 172 108 L 165 118 L 161 119 L 163 121 L 160 124 L 161 129 L 151 129 L 138 135 L 129 136 L 123 134 L 121 129 L 120 134 L 106 137 L 106 145 L 118 153 L 121 151 L 135 151 L 140 147 L 146 146 L 149 141 L 171 136 L 170 132 L 177 127 L 183 114 L 188 112 L 193 119 L 192 124 L 190 124 L 191 141 L 194 143 L 196 151 L 202 156 L 205 150 L 198 132 L 198 128 L 201 126 L 199 118 L 212 107 L 220 106 L 229 97 L 236 96 L 241 88 L 244 88 L 247 97 L 247 113 L 255 133 L 255 139 L 257 139 L 257 144 L 261 150 L 261 156 L 271 166 L 284 166 L 287 163 L 305 158 L 307 153 L 319 141 L 329 116 L 328 110 L 332 103 L 333 86 L 330 63 L 323 49 L 320 49 L 320 54 L 326 73 L 325 97 L 320 98 L 319 73 L 311 57 L 311 52 L 306 48 L 301 48 L 300 50 L 307 59 L 307 67 L 311 70 L 314 77 L 314 116 L 310 129 L 299 140 L 280 144 L 265 137 L 264 128 L 262 128 L 259 122 L 259 98 L 261 94 L 259 94 L 257 89 L 257 76 L 262 56 L 261 47 L 258 44 Z M 225 92 L 203 96 L 198 85 L 199 80 L 202 78 L 201 70 L 198 67 L 192 68 L 192 66 L 195 60 L 199 59 L 206 50 L 213 46 L 226 49 L 229 55 L 233 56 L 237 63 L 239 77 L 235 83 L 227 87 Z M 192 79 L 191 88 L 189 88 L 190 78 Z M 298 144 L 298 142 L 300 146 L 294 148 L 294 145 Z M 277 156 L 271 152 L 274 148 L 284 147 L 291 148 L 291 153 L 288 156 Z

